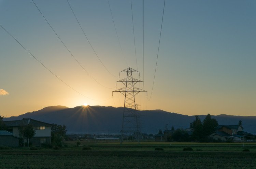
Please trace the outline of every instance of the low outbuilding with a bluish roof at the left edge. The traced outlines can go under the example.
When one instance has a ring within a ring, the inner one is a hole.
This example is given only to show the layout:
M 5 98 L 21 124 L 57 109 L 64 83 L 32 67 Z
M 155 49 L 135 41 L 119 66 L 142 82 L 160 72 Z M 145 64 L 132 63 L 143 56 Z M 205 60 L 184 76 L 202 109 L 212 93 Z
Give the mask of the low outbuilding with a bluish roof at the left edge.
M 0 130 L 0 146 L 18 147 L 19 140 L 20 138 L 14 136 L 13 133 L 6 130 Z

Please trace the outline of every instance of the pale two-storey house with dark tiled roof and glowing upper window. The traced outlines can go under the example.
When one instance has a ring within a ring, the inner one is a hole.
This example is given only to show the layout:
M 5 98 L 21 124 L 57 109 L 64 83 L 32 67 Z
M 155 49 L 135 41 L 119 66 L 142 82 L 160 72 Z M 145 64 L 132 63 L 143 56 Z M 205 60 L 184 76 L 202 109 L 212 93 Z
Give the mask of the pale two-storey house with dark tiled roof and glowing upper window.
M 22 120 L 3 121 L 7 127 L 7 131 L 16 137 L 19 136 L 19 127 L 30 125 L 35 130 L 35 135 L 29 140 L 34 146 L 41 146 L 41 144 L 51 144 L 51 127 L 52 124 L 44 123 L 42 121 L 31 118 L 23 118 Z M 25 139 L 26 143 L 27 140 Z

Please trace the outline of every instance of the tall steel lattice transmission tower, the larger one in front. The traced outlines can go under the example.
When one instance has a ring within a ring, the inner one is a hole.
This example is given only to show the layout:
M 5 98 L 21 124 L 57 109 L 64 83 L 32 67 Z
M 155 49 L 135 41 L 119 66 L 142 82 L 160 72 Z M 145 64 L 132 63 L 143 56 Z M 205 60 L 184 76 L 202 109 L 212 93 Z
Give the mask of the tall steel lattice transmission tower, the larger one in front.
M 140 143 L 140 131 L 137 116 L 137 104 L 135 103 L 135 95 L 137 95 L 139 92 L 147 91 L 134 87 L 136 83 L 143 81 L 133 78 L 132 73 L 139 73 L 140 76 L 140 72 L 132 68 L 127 68 L 119 72 L 119 76 L 120 73 L 127 73 L 126 78 L 116 81 L 122 82 L 125 85 L 125 87 L 113 91 L 120 92 L 125 96 L 120 143 L 122 144 L 125 134 L 132 134 L 138 140 L 138 143 Z

